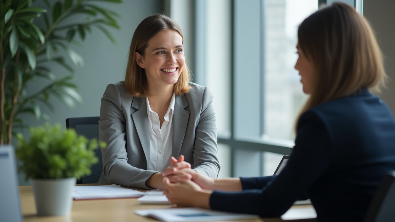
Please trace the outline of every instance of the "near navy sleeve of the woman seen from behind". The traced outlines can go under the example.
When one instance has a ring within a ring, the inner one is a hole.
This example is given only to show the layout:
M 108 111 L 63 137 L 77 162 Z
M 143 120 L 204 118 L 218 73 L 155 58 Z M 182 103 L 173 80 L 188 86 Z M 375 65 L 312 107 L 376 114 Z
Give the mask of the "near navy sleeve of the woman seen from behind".
M 242 179 L 243 191 L 214 191 L 210 197 L 213 210 L 277 217 L 284 214 L 320 175 L 331 159 L 331 139 L 322 120 L 306 112 L 298 123 L 295 146 L 287 165 L 279 175 L 261 179 Z M 264 185 L 260 189 L 253 188 Z

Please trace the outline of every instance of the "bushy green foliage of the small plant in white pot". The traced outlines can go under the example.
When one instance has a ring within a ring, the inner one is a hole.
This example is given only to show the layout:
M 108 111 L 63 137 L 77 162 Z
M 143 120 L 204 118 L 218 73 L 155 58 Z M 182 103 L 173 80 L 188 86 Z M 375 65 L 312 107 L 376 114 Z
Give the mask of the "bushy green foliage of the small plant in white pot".
M 78 136 L 73 129 L 62 129 L 59 124 L 31 127 L 29 141 L 20 133 L 17 140 L 15 154 L 21 160 L 18 170 L 26 174 L 26 180 L 79 179 L 90 174 L 90 166 L 98 162 L 94 154 L 99 145 L 96 139 L 89 141 Z M 106 144 L 100 142 L 100 146 L 105 147 Z

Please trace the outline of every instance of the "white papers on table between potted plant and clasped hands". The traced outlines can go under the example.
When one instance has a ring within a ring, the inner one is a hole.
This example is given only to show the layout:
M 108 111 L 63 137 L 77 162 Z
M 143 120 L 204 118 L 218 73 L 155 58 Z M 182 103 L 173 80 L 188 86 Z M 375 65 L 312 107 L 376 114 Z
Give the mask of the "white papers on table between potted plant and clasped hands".
M 103 186 L 75 186 L 73 187 L 72 194 L 74 200 L 133 198 L 143 195 L 143 192 L 130 188 L 122 188 L 115 184 Z

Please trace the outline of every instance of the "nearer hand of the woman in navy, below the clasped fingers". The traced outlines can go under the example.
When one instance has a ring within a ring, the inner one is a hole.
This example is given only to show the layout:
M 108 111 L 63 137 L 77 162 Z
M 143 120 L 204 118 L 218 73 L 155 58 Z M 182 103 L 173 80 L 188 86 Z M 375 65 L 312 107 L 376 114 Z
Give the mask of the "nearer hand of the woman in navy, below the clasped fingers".
M 171 183 L 169 178 L 163 178 L 164 194 L 171 203 L 182 207 L 210 208 L 210 190 L 203 190 L 196 183 L 188 179 L 180 179 L 177 183 Z

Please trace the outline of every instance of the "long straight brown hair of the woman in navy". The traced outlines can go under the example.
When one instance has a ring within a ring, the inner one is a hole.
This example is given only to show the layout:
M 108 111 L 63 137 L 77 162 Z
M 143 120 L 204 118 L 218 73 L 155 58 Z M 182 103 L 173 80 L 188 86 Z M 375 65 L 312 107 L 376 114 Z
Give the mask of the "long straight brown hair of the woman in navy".
M 369 23 L 353 7 L 340 2 L 324 7 L 301 23 L 297 35 L 299 49 L 316 70 L 301 114 L 360 88 L 379 92 L 384 85 L 382 52 Z

